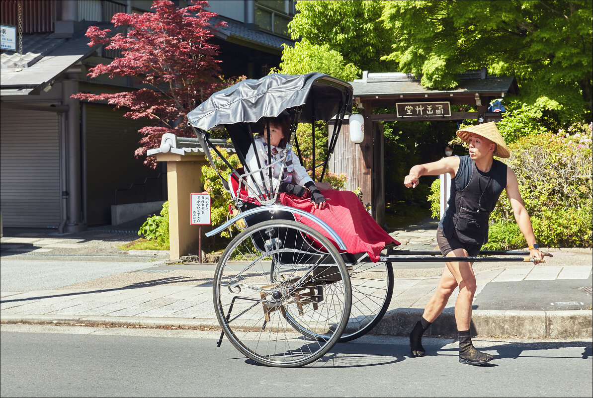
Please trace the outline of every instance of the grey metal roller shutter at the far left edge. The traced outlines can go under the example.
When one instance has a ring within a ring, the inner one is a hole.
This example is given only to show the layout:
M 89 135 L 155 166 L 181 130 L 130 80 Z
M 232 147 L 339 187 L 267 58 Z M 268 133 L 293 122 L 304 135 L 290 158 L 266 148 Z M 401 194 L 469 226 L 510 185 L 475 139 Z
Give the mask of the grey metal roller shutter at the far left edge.
M 4 227 L 57 228 L 60 223 L 58 114 L 4 110 L 0 154 Z

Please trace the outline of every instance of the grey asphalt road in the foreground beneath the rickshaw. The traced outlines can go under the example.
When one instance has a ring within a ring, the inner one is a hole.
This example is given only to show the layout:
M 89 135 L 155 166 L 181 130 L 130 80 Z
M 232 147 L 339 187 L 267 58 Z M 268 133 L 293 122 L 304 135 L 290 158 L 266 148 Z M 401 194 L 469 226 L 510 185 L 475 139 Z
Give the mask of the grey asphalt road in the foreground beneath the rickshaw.
M 495 355 L 462 365 L 457 342 L 404 337 L 340 343 L 303 368 L 263 367 L 216 332 L 2 325 L 0 393 L 8 396 L 589 397 L 592 342 L 474 339 Z

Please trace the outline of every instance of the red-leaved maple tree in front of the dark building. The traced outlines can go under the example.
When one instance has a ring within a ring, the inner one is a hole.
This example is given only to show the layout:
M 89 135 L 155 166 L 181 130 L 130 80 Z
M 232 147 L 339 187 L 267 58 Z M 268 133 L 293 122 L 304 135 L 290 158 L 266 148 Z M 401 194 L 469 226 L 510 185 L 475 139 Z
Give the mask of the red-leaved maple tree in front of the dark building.
M 215 57 L 218 46 L 212 44 L 210 18 L 217 14 L 205 11 L 207 1 L 193 1 L 193 5 L 178 8 L 171 1 L 156 0 L 154 12 L 144 14 L 118 13 L 111 23 L 126 32 L 111 35 L 111 30 L 91 26 L 87 30 L 89 46 L 105 45 L 106 49 L 119 49 L 122 56 L 109 64 L 90 69 L 94 78 L 109 74 L 133 77 L 139 90 L 111 94 L 78 93 L 73 98 L 87 101 L 107 101 L 115 109 L 129 109 L 124 117 L 158 120 L 158 125 L 140 130 L 141 147 L 136 157 L 160 145 L 164 133 L 193 136 L 187 126 L 187 113 L 206 100 L 212 93 L 237 81 L 225 81 Z M 224 23 L 214 27 L 224 26 Z M 241 78 L 240 78 L 241 79 Z M 144 164 L 155 167 L 156 161 L 147 157 Z

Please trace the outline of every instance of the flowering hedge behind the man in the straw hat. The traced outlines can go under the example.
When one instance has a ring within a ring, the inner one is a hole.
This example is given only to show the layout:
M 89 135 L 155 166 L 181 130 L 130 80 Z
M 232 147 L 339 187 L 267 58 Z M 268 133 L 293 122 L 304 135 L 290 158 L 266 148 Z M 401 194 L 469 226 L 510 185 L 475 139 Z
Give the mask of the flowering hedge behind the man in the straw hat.
M 521 198 L 542 247 L 592 246 L 592 128 L 591 123 L 576 123 L 558 133 L 525 136 L 508 145 L 511 157 L 503 161 L 517 175 Z M 438 180 L 431 192 L 432 214 L 438 216 Z M 504 196 L 490 216 L 484 250 L 527 247 Z

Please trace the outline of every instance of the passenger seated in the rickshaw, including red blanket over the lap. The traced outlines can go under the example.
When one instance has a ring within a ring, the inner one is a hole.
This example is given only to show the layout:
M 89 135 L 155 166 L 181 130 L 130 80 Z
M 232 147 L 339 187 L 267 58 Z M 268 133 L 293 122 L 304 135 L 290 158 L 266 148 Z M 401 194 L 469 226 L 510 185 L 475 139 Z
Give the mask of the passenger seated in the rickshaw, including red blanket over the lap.
M 287 116 L 270 117 L 264 119 L 263 122 L 264 126 L 269 125 L 270 128 L 270 157 L 267 128 L 264 128 L 264 132 L 255 138 L 257 151 L 254 151 L 252 145 L 247 152 L 246 162 L 249 170 L 254 171 L 268 165 L 270 158 L 274 163 L 286 155 L 283 170 L 280 163 L 275 164 L 272 169 L 273 185 L 276 186 L 279 183 L 278 203 L 317 216 L 340 235 L 346 245 L 347 253 L 366 252 L 373 262 L 379 260 L 381 250 L 387 244 L 400 244 L 375 222 L 355 193 L 335 190 L 329 183 L 314 182 L 311 179 L 307 170 L 299 162 L 297 155 L 292 149 L 286 147 L 289 134 Z M 266 185 L 269 184 L 267 182 L 269 174 L 267 173 L 266 170 L 263 179 L 260 173 L 253 174 L 262 192 L 267 190 Z M 252 199 L 256 199 L 258 196 L 253 189 L 248 189 L 248 195 Z M 300 221 L 319 230 L 313 221 L 306 218 L 302 218 Z M 331 240 L 331 236 L 324 230 L 320 230 L 320 232 Z

